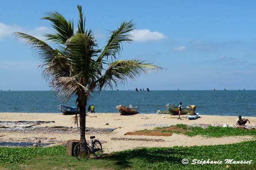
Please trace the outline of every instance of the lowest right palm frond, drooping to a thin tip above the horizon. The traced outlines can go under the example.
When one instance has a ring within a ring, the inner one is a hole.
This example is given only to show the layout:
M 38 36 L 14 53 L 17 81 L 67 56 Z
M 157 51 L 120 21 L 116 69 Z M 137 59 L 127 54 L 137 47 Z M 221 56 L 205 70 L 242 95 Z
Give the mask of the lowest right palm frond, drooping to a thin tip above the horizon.
M 132 60 L 118 60 L 109 64 L 105 74 L 98 80 L 98 87 L 101 90 L 104 86 L 113 88 L 113 85 L 127 83 L 128 79 L 135 80 L 142 73 L 148 74 L 163 69 L 152 64 L 144 63 L 139 58 Z

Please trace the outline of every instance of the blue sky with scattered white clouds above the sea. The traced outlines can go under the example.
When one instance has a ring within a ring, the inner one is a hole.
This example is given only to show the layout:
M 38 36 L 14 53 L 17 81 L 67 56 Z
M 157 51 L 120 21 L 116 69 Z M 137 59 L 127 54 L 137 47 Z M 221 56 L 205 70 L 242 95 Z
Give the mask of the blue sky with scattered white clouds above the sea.
M 49 90 L 29 46 L 12 36 L 38 38 L 51 32 L 45 12 L 78 18 L 82 5 L 86 27 L 100 48 L 122 21 L 136 24 L 134 42 L 124 44 L 122 59 L 140 57 L 166 68 L 128 81 L 119 90 L 255 90 L 256 1 L 233 0 L 2 0 L 0 6 L 0 89 Z

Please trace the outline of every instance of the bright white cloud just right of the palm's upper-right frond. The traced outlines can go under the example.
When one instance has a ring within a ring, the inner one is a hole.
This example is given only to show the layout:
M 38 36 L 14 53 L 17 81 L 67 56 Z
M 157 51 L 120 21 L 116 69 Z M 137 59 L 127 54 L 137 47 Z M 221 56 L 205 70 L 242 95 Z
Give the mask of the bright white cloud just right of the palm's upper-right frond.
M 158 31 L 151 32 L 149 29 L 135 29 L 133 31 L 133 40 L 146 42 L 146 41 L 159 41 L 166 39 L 167 36 Z

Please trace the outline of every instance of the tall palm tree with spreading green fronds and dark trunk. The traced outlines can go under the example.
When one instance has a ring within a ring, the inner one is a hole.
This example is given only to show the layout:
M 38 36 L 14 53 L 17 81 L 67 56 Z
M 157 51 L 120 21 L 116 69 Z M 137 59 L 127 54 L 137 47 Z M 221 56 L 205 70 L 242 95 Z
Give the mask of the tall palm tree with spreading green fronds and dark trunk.
M 49 86 L 63 100 L 69 100 L 75 94 L 80 109 L 80 140 L 85 138 L 85 114 L 87 100 L 95 90 L 112 89 L 134 80 L 141 73 L 158 71 L 161 67 L 144 63 L 139 58 L 117 60 L 121 55 L 122 43 L 132 41 L 130 32 L 135 29 L 132 21 L 122 22 L 120 27 L 111 32 L 107 45 L 98 49 L 91 29 L 85 30 L 85 18 L 82 6 L 79 10 L 78 30 L 74 32 L 72 20 L 66 20 L 60 13 L 46 13 L 42 19 L 49 20 L 55 30 L 45 34 L 46 40 L 54 43 L 55 49 L 46 42 L 31 35 L 14 32 L 17 38 L 31 45 L 42 64 L 43 77 Z

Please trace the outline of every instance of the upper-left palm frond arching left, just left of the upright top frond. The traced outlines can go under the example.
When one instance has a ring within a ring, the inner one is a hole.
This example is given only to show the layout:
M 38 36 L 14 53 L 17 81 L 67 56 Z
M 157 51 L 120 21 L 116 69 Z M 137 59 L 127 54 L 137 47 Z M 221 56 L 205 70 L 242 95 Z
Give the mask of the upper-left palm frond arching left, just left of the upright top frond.
M 47 40 L 64 44 L 67 39 L 74 35 L 73 21 L 67 21 L 64 16 L 58 12 L 45 13 L 46 16 L 41 19 L 46 19 L 52 22 L 51 26 L 55 29 L 55 34 L 45 34 Z

